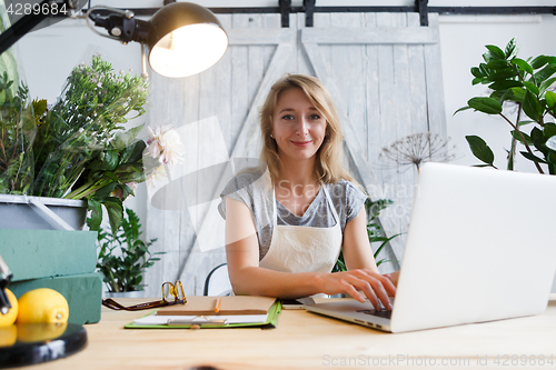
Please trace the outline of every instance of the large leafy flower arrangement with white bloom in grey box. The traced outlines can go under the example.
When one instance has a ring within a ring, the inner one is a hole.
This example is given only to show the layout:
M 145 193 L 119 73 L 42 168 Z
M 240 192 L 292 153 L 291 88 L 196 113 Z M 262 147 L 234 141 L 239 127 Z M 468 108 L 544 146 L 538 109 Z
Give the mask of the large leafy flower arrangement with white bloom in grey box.
M 13 93 L 12 84 L 0 77 L 1 193 L 86 199 L 89 228 L 100 230 L 103 207 L 116 232 L 137 183 L 181 160 L 183 147 L 171 128 L 149 129 L 148 142 L 137 139 L 143 126 L 125 129 L 146 112 L 148 82 L 116 73 L 99 54 L 71 71 L 52 106 L 29 103 L 27 87 Z

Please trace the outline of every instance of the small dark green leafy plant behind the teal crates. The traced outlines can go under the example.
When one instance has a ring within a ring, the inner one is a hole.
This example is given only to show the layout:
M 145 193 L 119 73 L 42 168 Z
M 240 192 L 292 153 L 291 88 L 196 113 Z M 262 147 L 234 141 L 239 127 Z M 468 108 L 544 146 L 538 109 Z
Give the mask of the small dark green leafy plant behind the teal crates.
M 99 231 L 97 268 L 103 276 L 110 297 L 121 297 L 122 294 L 118 293 L 125 292 L 141 292 L 145 287 L 142 273 L 160 260 L 156 256 L 163 252 L 149 252 L 149 247 L 157 239 L 145 242 L 140 239 L 141 234 L 139 217 L 129 208 L 126 209 L 126 217 L 116 232 L 111 229 Z

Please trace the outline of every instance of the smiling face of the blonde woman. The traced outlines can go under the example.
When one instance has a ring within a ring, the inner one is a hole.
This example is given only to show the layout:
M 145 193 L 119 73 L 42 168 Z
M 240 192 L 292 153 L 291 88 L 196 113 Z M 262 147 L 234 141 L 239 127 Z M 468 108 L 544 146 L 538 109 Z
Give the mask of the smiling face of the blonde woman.
M 272 136 L 280 158 L 312 158 L 325 139 L 326 124 L 301 89 L 284 91 L 272 117 Z

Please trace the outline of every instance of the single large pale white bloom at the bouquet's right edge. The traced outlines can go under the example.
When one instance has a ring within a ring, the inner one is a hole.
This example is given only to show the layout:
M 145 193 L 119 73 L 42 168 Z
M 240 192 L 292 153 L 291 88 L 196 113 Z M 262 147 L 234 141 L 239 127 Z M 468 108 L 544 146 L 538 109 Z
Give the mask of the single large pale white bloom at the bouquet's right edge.
M 152 158 L 158 158 L 162 164 L 175 166 L 183 161 L 186 148 L 171 126 L 159 126 L 152 131 L 150 127 L 147 151 Z

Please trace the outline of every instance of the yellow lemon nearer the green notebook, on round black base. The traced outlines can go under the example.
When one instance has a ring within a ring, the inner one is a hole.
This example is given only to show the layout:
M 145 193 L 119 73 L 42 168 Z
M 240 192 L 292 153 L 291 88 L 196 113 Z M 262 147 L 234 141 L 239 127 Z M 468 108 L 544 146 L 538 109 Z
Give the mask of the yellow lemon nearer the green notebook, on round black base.
M 68 316 L 68 301 L 53 289 L 33 289 L 19 298 L 18 323 L 61 323 Z

